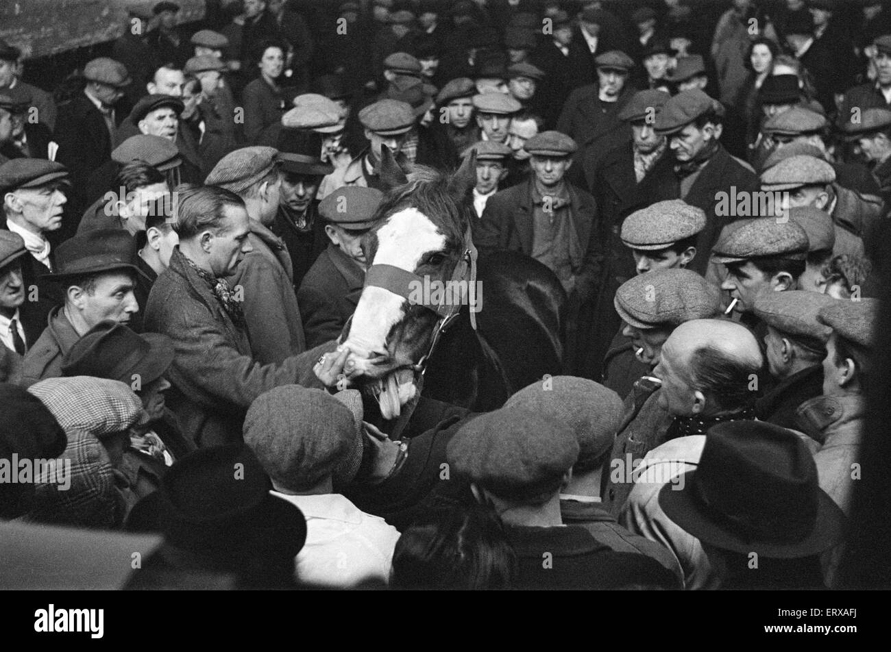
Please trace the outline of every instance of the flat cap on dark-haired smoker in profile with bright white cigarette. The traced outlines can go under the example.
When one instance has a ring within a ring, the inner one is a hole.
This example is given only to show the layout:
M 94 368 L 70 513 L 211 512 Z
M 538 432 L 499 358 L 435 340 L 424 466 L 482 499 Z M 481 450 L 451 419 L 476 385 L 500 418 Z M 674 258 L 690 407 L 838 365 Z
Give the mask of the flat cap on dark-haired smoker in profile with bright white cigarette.
M 805 230 L 792 220 L 758 217 L 726 233 L 712 249 L 712 258 L 718 263 L 763 257 L 804 260 L 807 248 Z

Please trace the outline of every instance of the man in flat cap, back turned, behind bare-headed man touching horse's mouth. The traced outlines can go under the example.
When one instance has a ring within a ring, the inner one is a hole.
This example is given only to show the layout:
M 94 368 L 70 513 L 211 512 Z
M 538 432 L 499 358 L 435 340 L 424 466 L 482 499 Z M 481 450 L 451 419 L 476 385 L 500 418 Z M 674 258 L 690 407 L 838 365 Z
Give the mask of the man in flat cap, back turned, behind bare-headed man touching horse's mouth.
M 272 147 L 235 150 L 205 180 L 237 194 L 248 211 L 251 250 L 230 281 L 233 288 L 241 288 L 250 351 L 260 364 L 282 363 L 307 348 L 290 254 L 284 241 L 270 231 L 281 194 L 277 155 Z

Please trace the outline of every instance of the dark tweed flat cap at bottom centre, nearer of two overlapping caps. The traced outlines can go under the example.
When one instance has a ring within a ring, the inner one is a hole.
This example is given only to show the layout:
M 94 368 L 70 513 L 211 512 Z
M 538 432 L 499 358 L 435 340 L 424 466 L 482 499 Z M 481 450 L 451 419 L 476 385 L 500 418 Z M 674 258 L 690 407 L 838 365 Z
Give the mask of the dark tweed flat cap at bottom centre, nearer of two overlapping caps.
M 446 460 L 459 477 L 496 496 L 537 502 L 560 490 L 578 452 L 565 422 L 503 407 L 465 423 L 446 445 Z

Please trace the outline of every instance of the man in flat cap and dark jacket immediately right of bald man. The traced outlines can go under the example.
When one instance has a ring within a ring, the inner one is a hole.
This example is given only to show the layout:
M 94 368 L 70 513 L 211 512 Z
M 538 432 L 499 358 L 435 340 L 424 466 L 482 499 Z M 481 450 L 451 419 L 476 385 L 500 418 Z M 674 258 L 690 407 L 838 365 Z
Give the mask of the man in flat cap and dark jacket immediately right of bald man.
M 764 322 L 764 357 L 775 385 L 755 403 L 759 420 L 797 429 L 801 403 L 823 393 L 826 340 L 831 329 L 819 322 L 823 306 L 838 301 L 800 289 L 766 292 L 755 299 L 755 315 Z

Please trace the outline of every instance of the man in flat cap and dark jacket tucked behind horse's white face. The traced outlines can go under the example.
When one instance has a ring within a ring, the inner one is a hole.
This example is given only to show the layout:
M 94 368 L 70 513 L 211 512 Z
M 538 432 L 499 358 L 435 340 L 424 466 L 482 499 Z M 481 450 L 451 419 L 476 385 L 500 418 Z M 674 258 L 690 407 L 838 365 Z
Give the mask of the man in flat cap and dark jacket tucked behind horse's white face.
M 356 310 L 367 261 L 362 238 L 374 225 L 383 194 L 374 188 L 344 186 L 319 203 L 330 240 L 298 290 L 307 346 L 338 338 Z

